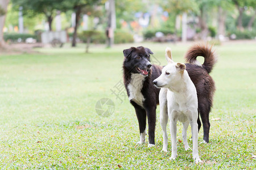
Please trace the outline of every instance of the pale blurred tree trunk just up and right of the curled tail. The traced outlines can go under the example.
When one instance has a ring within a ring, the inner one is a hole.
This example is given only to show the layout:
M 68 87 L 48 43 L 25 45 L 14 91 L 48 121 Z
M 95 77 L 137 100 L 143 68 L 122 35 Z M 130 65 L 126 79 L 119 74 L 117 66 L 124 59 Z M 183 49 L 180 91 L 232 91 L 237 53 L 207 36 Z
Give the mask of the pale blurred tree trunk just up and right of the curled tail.
M 225 22 L 226 22 L 226 11 L 222 7 L 218 7 L 218 39 L 220 36 L 225 36 Z

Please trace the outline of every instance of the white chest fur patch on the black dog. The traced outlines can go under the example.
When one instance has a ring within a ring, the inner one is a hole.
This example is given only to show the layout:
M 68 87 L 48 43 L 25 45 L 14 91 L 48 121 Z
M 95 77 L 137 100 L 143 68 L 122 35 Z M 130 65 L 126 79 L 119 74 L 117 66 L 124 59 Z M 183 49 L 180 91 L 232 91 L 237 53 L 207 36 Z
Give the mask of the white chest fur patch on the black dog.
M 141 107 L 143 107 L 144 96 L 141 93 L 145 76 L 141 74 L 131 74 L 131 82 L 127 88 L 129 90 L 129 100 L 134 101 Z

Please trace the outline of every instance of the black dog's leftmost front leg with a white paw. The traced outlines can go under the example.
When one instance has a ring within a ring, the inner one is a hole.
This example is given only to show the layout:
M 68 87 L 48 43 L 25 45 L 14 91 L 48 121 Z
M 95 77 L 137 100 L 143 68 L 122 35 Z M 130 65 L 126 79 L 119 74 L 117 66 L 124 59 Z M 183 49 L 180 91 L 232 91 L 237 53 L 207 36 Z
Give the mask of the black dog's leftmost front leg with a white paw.
M 142 143 L 145 143 L 145 138 L 146 138 L 146 119 L 147 119 L 147 115 L 146 115 L 146 111 L 139 106 L 138 104 L 136 104 L 135 102 L 131 101 L 131 104 L 134 106 L 135 108 L 135 112 L 137 115 L 137 119 L 139 122 L 139 133 L 140 133 L 140 137 L 139 137 L 139 142 L 137 142 L 137 145 L 141 145 Z

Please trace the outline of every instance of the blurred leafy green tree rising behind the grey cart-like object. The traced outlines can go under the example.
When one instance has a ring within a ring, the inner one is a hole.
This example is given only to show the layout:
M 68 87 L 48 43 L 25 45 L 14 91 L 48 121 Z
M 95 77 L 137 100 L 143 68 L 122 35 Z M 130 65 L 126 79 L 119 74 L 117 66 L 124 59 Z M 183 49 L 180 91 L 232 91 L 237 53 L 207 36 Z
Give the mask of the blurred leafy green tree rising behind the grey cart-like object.
M 15 8 L 23 7 L 23 14 L 34 16 L 44 14 L 49 23 L 49 31 L 52 31 L 52 20 L 56 15 L 56 9 L 60 8 L 63 0 L 11 0 Z

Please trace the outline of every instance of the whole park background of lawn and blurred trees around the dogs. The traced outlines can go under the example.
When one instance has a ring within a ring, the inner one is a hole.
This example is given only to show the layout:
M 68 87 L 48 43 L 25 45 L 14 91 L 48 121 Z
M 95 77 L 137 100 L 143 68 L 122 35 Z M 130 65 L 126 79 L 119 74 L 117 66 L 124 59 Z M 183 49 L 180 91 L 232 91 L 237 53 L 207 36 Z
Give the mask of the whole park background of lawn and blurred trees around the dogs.
M 0 14 L 2 169 L 256 168 L 255 1 L 1 0 Z M 146 46 L 152 62 L 166 65 L 167 46 L 184 62 L 197 42 L 214 45 L 218 57 L 210 139 L 199 145 L 203 163 L 194 164 L 178 124 L 178 158 L 170 162 L 159 121 L 156 146 L 135 145 L 122 50 Z M 96 110 L 103 98 L 114 103 L 106 117 Z

